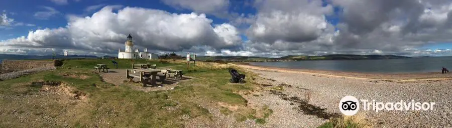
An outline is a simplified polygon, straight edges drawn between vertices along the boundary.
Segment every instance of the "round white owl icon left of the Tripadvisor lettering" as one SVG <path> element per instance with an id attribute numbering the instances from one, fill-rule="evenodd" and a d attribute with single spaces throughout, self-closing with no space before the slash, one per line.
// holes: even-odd
<path id="1" fill-rule="evenodd" d="M 355 96 L 344 96 L 339 101 L 339 110 L 345 115 L 355 115 L 360 110 L 360 102 Z"/>

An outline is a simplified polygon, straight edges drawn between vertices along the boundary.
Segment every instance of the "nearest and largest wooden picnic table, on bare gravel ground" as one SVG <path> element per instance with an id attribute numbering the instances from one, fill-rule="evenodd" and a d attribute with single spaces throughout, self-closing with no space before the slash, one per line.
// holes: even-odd
<path id="1" fill-rule="evenodd" d="M 129 70 L 131 71 L 138 71 L 140 75 L 137 74 L 130 74 Z M 157 72 L 160 72 L 160 69 L 142 69 L 142 68 L 136 68 L 136 69 L 127 69 L 126 70 L 126 76 L 127 78 L 140 78 L 140 82 L 143 84 L 143 86 L 146 86 L 147 84 L 156 84 L 156 76 L 159 76 L 160 80 L 163 82 L 165 79 L 165 75 L 161 76 L 158 75 Z"/>

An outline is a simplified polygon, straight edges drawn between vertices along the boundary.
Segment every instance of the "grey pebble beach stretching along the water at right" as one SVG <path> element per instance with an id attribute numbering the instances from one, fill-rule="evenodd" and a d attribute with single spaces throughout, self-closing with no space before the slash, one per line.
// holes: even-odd
<path id="1" fill-rule="evenodd" d="M 338 102 L 346 95 L 358 99 L 375 99 L 381 102 L 397 102 L 401 99 L 414 99 L 420 102 L 436 102 L 430 111 L 365 111 L 367 119 L 375 127 L 451 127 L 452 126 L 452 81 L 391 81 L 369 80 L 323 75 L 305 74 L 302 72 L 275 72 L 249 69 L 260 74 L 273 86 L 284 83 L 281 94 L 263 92 L 262 96 L 247 97 L 252 103 L 267 104 L 273 109 L 268 126 L 270 127 L 315 127 L 326 121 L 322 115 L 341 115 Z M 290 85 L 290 86 L 289 86 Z M 306 98 L 310 90 L 309 105 L 316 106 L 320 112 L 312 114 L 300 109 L 300 103 L 282 99 L 281 97 Z"/>

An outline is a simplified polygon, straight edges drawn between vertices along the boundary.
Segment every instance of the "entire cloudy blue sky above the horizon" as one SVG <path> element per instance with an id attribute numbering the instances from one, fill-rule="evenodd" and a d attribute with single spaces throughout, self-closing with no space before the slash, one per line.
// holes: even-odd
<path id="1" fill-rule="evenodd" d="M 451 2 L 3 0 L 0 53 L 115 55 L 132 33 L 137 48 L 157 53 L 444 56 L 452 55 Z"/>

